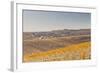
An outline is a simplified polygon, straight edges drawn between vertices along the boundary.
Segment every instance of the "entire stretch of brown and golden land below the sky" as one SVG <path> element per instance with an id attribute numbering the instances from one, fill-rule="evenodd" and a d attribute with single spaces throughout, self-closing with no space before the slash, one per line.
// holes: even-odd
<path id="1" fill-rule="evenodd" d="M 23 62 L 91 59 L 90 29 L 23 33 Z"/>

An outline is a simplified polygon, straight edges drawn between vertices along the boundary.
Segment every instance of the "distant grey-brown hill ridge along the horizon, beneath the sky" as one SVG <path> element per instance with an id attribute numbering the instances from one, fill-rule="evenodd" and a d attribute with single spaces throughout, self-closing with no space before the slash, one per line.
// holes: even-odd
<path id="1" fill-rule="evenodd" d="M 24 32 L 24 36 L 27 37 L 64 37 L 64 36 L 75 36 L 75 35 L 89 35 L 91 29 L 63 29 L 63 30 L 52 30 L 45 32 Z"/>

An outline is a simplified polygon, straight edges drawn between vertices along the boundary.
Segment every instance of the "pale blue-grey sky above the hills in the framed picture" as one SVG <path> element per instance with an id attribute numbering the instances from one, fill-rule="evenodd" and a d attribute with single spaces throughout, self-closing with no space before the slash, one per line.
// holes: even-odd
<path id="1" fill-rule="evenodd" d="M 91 14 L 23 10 L 23 32 L 91 28 Z"/>

